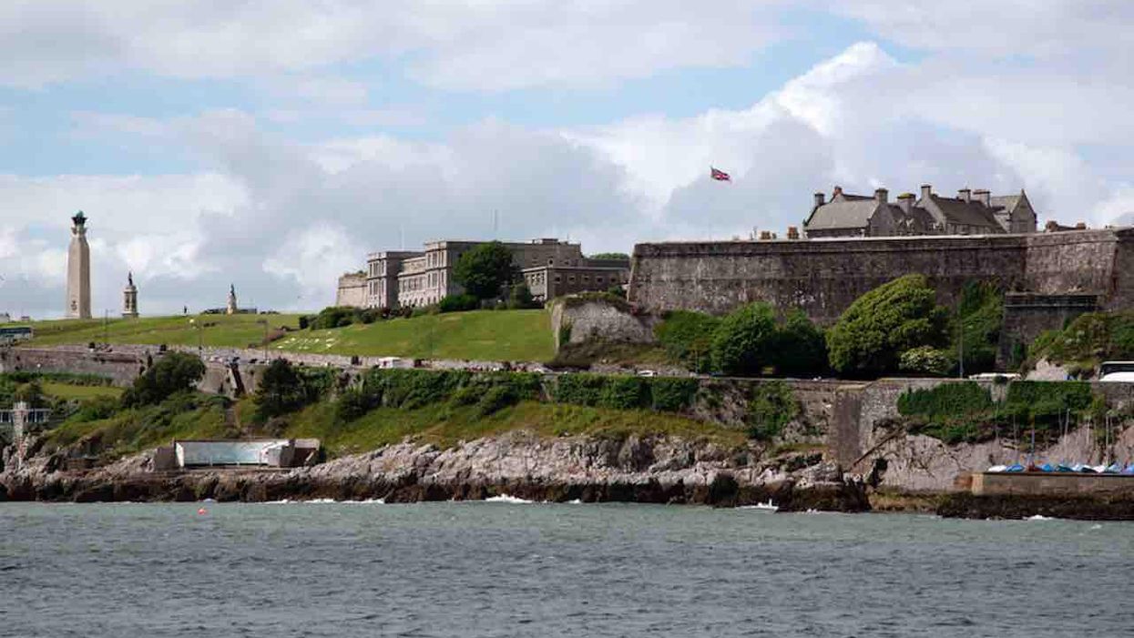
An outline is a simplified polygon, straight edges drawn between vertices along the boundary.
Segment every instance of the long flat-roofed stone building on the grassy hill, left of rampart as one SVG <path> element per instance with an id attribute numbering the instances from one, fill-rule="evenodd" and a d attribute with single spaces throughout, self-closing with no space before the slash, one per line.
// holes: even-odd
<path id="1" fill-rule="evenodd" d="M 452 279 L 452 267 L 462 255 L 484 244 L 446 239 L 430 241 L 424 250 L 386 250 L 367 257 L 363 299 L 353 295 L 352 279 L 339 279 L 337 299 L 364 307 L 420 307 L 435 304 L 463 289 Z M 503 241 L 536 299 L 582 290 L 606 290 L 611 283 L 626 283 L 629 262 L 589 260 L 579 244 L 540 238 L 531 241 Z M 575 270 L 569 270 L 575 269 Z M 550 282 L 550 292 L 549 291 Z M 539 292 L 538 292 L 539 290 Z"/>

